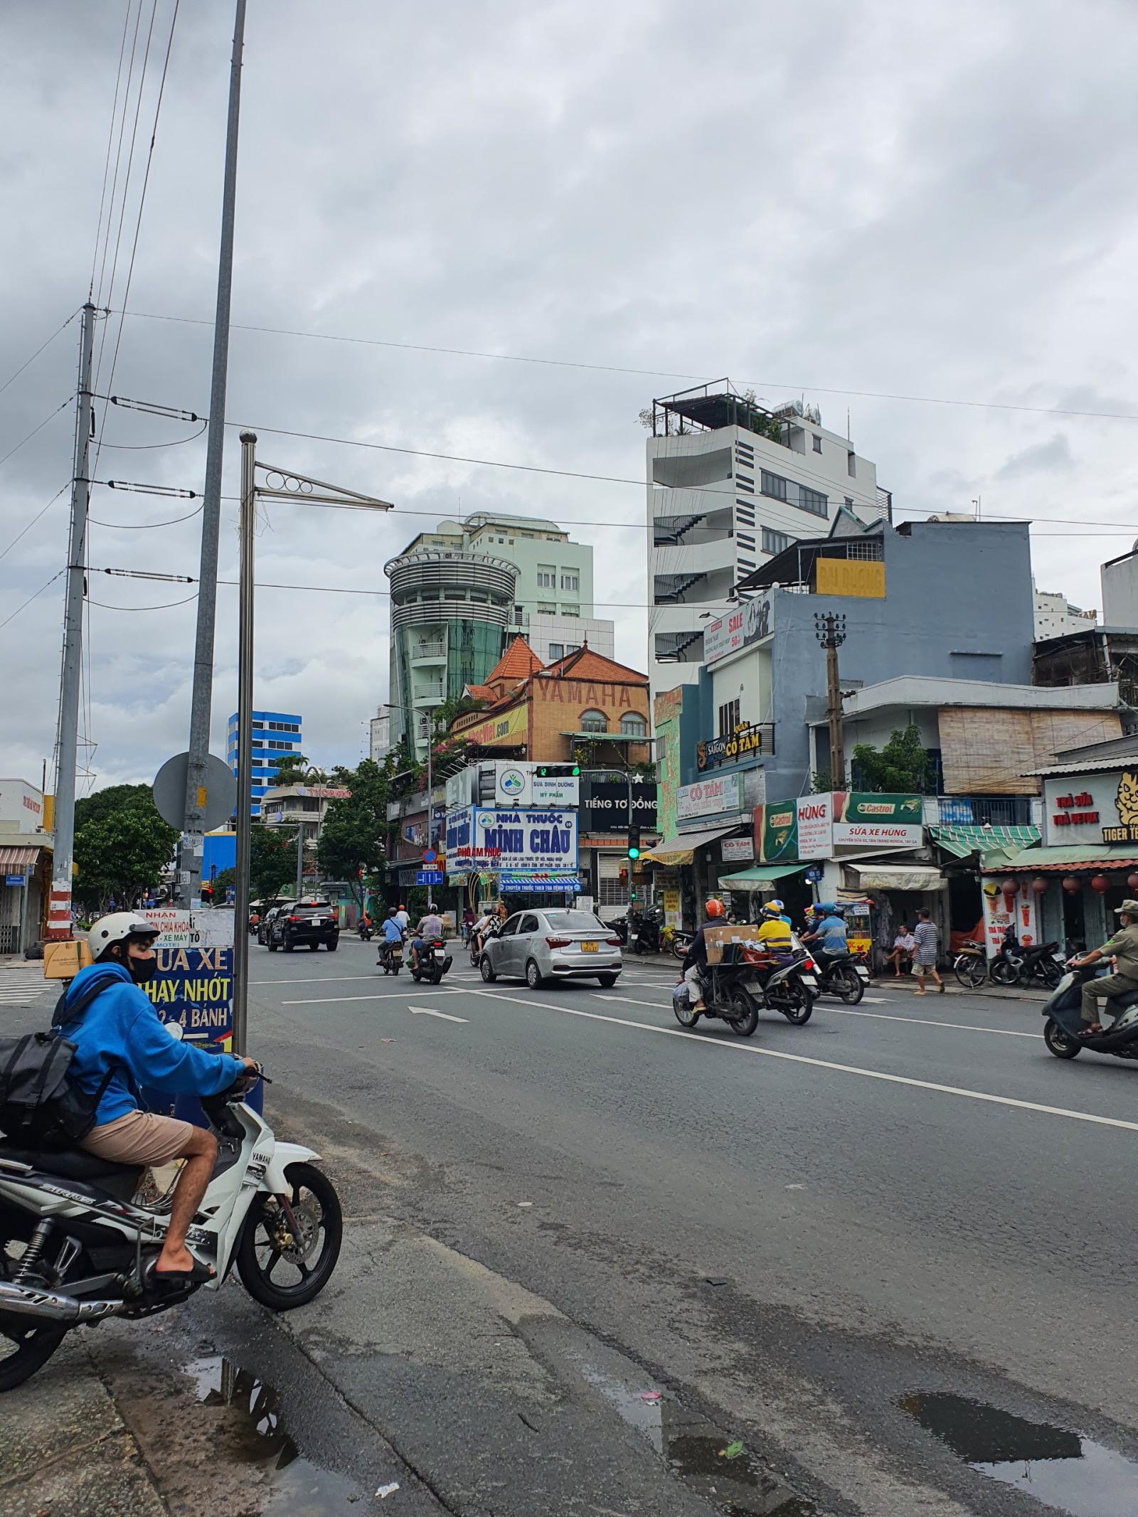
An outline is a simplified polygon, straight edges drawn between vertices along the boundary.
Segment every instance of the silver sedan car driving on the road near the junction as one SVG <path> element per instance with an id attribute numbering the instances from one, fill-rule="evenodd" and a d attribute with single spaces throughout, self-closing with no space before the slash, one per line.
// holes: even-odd
<path id="1" fill-rule="evenodd" d="M 514 912 L 489 939 L 479 960 L 483 978 L 517 975 L 531 991 L 546 980 L 599 980 L 616 985 L 624 968 L 621 939 L 592 912 Z"/>

